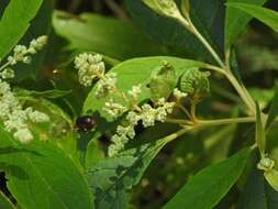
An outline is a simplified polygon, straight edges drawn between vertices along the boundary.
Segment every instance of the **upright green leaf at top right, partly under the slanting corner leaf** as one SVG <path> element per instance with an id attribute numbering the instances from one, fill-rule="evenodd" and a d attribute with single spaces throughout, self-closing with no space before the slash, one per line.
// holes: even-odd
<path id="1" fill-rule="evenodd" d="M 240 33 L 252 20 L 252 15 L 246 14 L 232 7 L 237 3 L 249 3 L 263 6 L 267 0 L 227 0 L 226 18 L 225 18 L 225 50 L 227 51 L 236 41 Z M 230 7 L 231 6 L 231 7 Z"/>

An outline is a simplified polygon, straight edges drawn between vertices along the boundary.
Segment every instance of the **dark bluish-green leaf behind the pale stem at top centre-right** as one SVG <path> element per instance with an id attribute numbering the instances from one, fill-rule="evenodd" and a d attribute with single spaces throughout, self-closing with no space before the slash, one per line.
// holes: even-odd
<path id="1" fill-rule="evenodd" d="M 202 44 L 175 20 L 156 14 L 144 6 L 142 0 L 125 0 L 125 4 L 133 20 L 162 44 L 186 57 L 202 57 L 212 61 Z M 190 15 L 212 47 L 223 54 L 224 2 L 222 0 L 192 0 Z"/>

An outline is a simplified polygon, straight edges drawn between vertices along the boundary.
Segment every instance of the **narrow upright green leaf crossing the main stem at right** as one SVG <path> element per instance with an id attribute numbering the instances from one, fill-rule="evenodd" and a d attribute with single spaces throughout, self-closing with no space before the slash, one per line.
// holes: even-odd
<path id="1" fill-rule="evenodd" d="M 256 102 L 256 143 L 260 152 L 260 155 L 264 155 L 266 150 L 266 136 L 264 124 L 262 121 L 260 109 L 257 102 Z"/>

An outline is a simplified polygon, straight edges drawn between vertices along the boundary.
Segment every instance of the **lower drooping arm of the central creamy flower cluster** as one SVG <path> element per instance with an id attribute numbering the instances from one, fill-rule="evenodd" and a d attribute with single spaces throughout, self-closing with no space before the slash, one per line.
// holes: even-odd
<path id="1" fill-rule="evenodd" d="M 137 98 L 141 92 L 140 86 L 132 87 L 132 90 L 127 91 L 131 99 Z M 122 109 L 125 108 L 125 111 L 129 110 L 127 107 L 123 107 L 120 103 L 114 103 L 114 106 L 119 106 Z M 124 145 L 129 142 L 130 139 L 135 138 L 135 125 L 142 121 L 144 128 L 155 125 L 155 121 L 165 122 L 167 114 L 173 112 L 173 108 L 175 102 L 167 102 L 164 98 L 159 99 L 156 103 L 156 107 L 152 107 L 151 105 L 143 105 L 141 108 L 137 107 L 136 110 L 131 110 L 125 120 L 127 121 L 127 125 L 119 125 L 116 129 L 116 134 L 112 136 L 112 142 L 109 146 L 108 155 L 113 156 L 118 154 L 120 151 L 124 148 Z M 138 110 L 140 108 L 140 110 Z M 108 113 L 111 113 L 108 111 Z M 121 116 L 116 114 L 118 111 L 112 111 L 111 116 Z"/>

